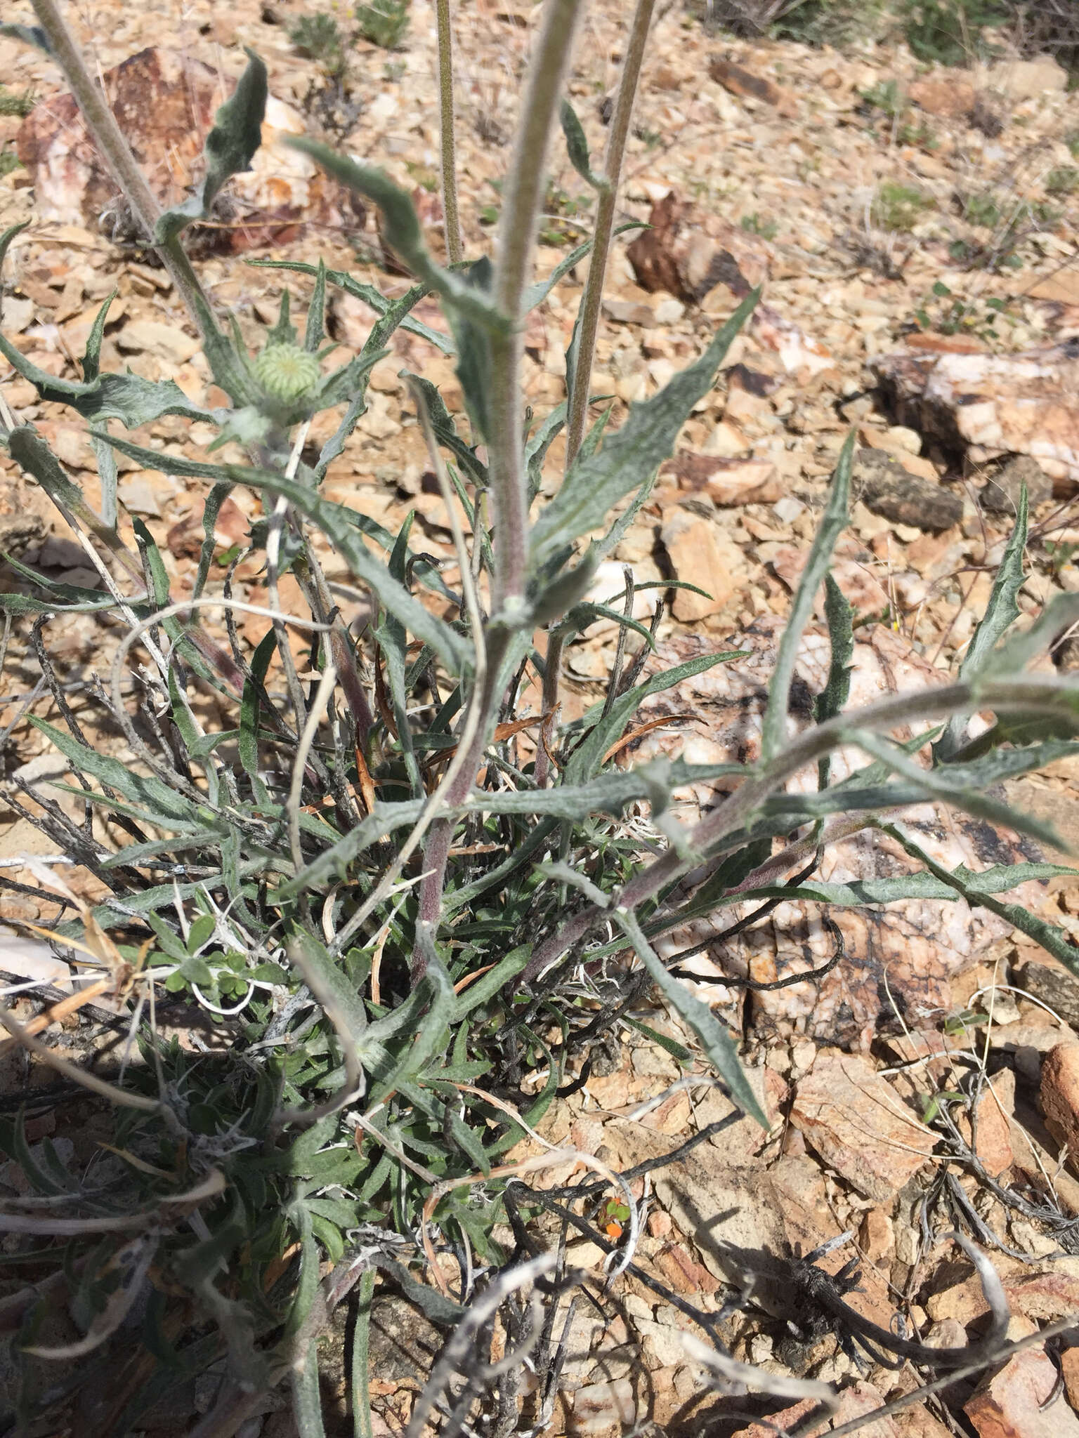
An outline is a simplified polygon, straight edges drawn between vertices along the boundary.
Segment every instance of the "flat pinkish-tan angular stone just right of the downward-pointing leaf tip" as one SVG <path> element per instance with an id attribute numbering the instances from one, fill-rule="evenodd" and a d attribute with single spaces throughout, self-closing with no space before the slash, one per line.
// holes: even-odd
<path id="1" fill-rule="evenodd" d="M 865 1060 L 821 1057 L 794 1089 L 790 1120 L 824 1162 L 883 1204 L 932 1155 L 934 1136 Z"/>

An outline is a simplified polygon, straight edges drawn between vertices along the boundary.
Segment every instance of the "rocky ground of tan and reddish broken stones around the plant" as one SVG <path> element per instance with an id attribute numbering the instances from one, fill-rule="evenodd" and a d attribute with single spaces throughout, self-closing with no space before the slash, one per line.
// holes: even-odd
<path id="1" fill-rule="evenodd" d="M 617 78 L 620 9 L 590 6 L 570 82 L 594 151 Z M 383 250 L 374 216 L 357 211 L 276 144 L 285 132 L 318 132 L 327 115 L 317 104 L 318 69 L 288 36 L 301 10 L 252 0 L 236 0 L 227 13 L 209 0 L 145 7 L 88 0 L 78 10 L 81 39 L 106 76 L 151 183 L 170 200 L 184 193 L 209 116 L 243 68 L 243 46 L 266 60 L 275 102 L 263 151 L 200 240 L 200 272 L 214 303 L 252 342 L 273 322 L 285 282 L 279 270 L 252 267 L 252 257 L 322 256 L 384 295 L 407 285 Z M 473 256 L 491 246 L 535 20 L 515 0 L 457 10 L 462 211 Z M 42 370 L 75 378 L 75 357 L 115 288 L 104 368 L 174 378 L 194 401 L 213 404 L 194 332 L 167 275 L 125 243 L 129 224 L 55 69 L 0 39 L 0 75 L 10 91 L 39 96 L 29 118 L 0 116 L 0 154 L 23 161 L 0 165 L 0 216 L 4 226 L 30 221 L 4 272 L 3 334 Z M 639 582 L 689 581 L 708 597 L 672 591 L 659 630 L 666 663 L 695 647 L 731 647 L 732 637 L 750 657 L 660 696 L 668 709 L 656 706 L 652 716 L 678 715 L 680 728 L 657 731 L 633 758 L 683 743 L 696 746 L 696 758 L 751 746 L 747 697 L 767 683 L 775 630 L 852 427 L 857 502 L 834 572 L 862 621 L 856 686 L 863 702 L 955 672 L 1023 480 L 1033 515 L 1023 610 L 1033 617 L 1052 594 L 1079 590 L 1072 562 L 1079 552 L 1079 95 L 1065 82 L 1052 62 L 932 72 L 896 47 L 840 55 L 731 42 L 709 36 L 679 6 L 657 20 L 623 201 L 623 219 L 649 220 L 653 229 L 619 242 L 594 377 L 597 391 L 616 397 L 613 423 L 695 357 L 750 286 L 762 283 L 764 301 L 597 590 L 601 598 L 620 592 L 624 564 Z M 358 46 L 348 104 L 358 115 L 345 147 L 414 190 L 437 244 L 426 3 L 416 0 L 400 50 Z M 541 273 L 588 227 L 587 193 L 561 151 L 551 175 Z M 525 380 L 540 414 L 564 397 L 581 279 L 578 266 L 529 324 Z M 309 280 L 289 276 L 288 283 L 306 296 Z M 442 328 L 433 303 L 416 315 Z M 338 358 L 358 349 L 373 318 L 360 299 L 335 295 Z M 452 558 L 442 499 L 424 477 L 424 446 L 399 378 L 403 367 L 437 383 L 450 410 L 460 408 L 452 362 L 424 339 L 399 334 L 393 355 L 375 368 L 357 439 L 325 489 L 390 529 L 414 510 L 424 549 Z M 16 418 L 49 437 L 98 503 L 92 449 L 69 413 L 37 404 L 33 387 L 6 361 L 0 394 Z M 314 444 L 337 417 L 322 423 Z M 211 437 L 209 427 L 200 433 L 168 418 L 140 436 L 163 454 L 188 457 L 204 456 Z M 121 532 L 131 536 L 135 519 L 145 523 L 174 592 L 183 594 L 196 568 L 204 490 L 135 462 L 121 462 Z M 223 506 L 222 555 L 243 541 L 256 503 L 236 490 Z M 98 582 L 47 499 L 3 454 L 0 549 L 50 580 Z M 348 580 L 344 572 L 329 578 Z M 258 603 L 258 564 L 242 564 L 236 580 Z M 0 569 L 4 587 L 22 582 L 12 568 Z M 282 582 L 286 608 L 289 582 Z M 656 592 L 642 591 L 642 605 Z M 342 603 L 352 604 L 352 618 L 363 611 L 355 591 Z M 263 630 L 265 620 L 250 617 L 242 637 L 253 644 Z M 47 634 L 78 715 L 88 677 L 111 654 L 111 636 L 88 615 L 53 620 Z M 820 634 L 807 637 L 800 661 L 807 682 L 826 659 L 823 643 Z M 591 703 L 611 657 L 613 633 L 600 628 L 568 651 L 567 718 L 574 705 L 581 712 Z M 1079 663 L 1070 641 L 1055 663 Z M 58 772 L 23 722 L 27 707 L 50 712 L 37 686 L 33 661 L 12 643 L 0 735 L 7 775 L 27 781 Z M 1013 785 L 1011 798 L 1079 841 L 1076 781 L 1079 769 L 1066 761 Z M 685 804 L 706 797 L 685 795 Z M 1017 853 L 1014 835 L 987 838 L 984 825 L 944 814 L 931 812 L 925 828 L 950 867 L 1007 861 L 1001 846 Z M 0 812 L 0 863 L 26 886 L 0 897 L 0 916 L 53 917 L 32 892 L 37 884 L 23 861 L 47 851 L 32 825 Z M 879 844 L 873 853 L 840 844 L 821 876 L 860 877 L 879 860 Z M 78 887 L 81 879 L 70 881 Z M 92 896 L 92 880 L 83 887 Z M 1079 928 L 1072 880 L 1030 886 L 1024 902 L 1069 932 Z M 968 1231 L 991 1251 L 1013 1313 L 1010 1337 L 1079 1313 L 1079 1227 L 1070 1222 L 1079 1218 L 1079 1181 L 1069 1158 L 1079 1153 L 1079 982 L 1026 938 L 961 905 L 911 903 L 836 919 L 847 962 L 819 984 L 738 1002 L 719 985 L 704 989 L 747 1035 L 747 1061 L 773 1129 L 762 1140 L 748 1120 L 734 1123 L 647 1181 L 652 1206 L 637 1263 L 668 1297 L 627 1276 L 614 1317 L 580 1310 L 551 1434 L 642 1431 L 647 1419 L 692 1426 L 702 1373 L 683 1345 L 685 1320 L 670 1294 L 718 1311 L 716 1294 L 732 1276 L 755 1284 L 755 1307 L 727 1320 L 737 1356 L 773 1373 L 842 1383 L 836 1425 L 914 1391 L 919 1379 L 909 1365 L 860 1372 L 834 1333 L 794 1334 L 783 1322 L 790 1316 L 783 1265 L 842 1234 L 849 1238 L 823 1261 L 839 1270 L 860 1258 L 862 1290 L 850 1303 L 892 1332 L 901 1311 L 906 1332 L 924 1343 L 973 1343 L 987 1313 L 973 1265 L 932 1238 L 952 1227 L 950 1212 L 967 1215 Z M 689 938 L 699 942 L 708 932 L 675 935 L 670 952 Z M 26 969 L 37 959 L 19 961 L 13 938 L 0 943 L 9 945 L 7 971 L 23 972 L 20 962 Z M 739 943 L 741 972 L 768 981 L 791 966 L 819 966 L 833 935 L 811 906 L 786 905 Z M 696 972 L 702 982 L 722 975 L 708 955 Z M 673 1020 L 663 1024 L 679 1037 Z M 716 1090 L 685 1086 L 679 1073 L 656 1045 L 627 1045 L 609 1074 L 557 1103 L 544 1136 L 617 1168 L 668 1152 L 729 1116 Z M 970 1103 L 945 1104 L 951 1127 L 932 1122 L 941 1109 L 934 1094 L 958 1090 L 970 1074 L 977 1080 Z M 40 1123 L 47 1132 L 47 1119 Z M 564 1178 L 552 1171 L 544 1182 Z M 594 1245 L 577 1247 L 574 1261 L 600 1263 Z M 414 1365 L 409 1345 L 394 1342 L 391 1304 L 383 1313 L 387 1336 L 374 1391 L 384 1431 L 399 1432 Z M 878 1438 L 1079 1434 L 1079 1349 L 1066 1337 L 1063 1345 L 1032 1346 L 990 1378 L 952 1383 L 944 1398 L 912 1403 L 865 1431 Z M 731 1399 L 724 1432 L 757 1438 L 770 1431 L 747 1428 L 741 1411 Z M 268 1416 L 265 1438 L 285 1434 L 283 1422 L 283 1415 Z"/>

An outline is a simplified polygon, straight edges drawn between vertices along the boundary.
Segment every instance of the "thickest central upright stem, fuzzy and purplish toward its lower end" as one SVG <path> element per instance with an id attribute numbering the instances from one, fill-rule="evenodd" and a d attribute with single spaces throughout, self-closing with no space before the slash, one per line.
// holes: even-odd
<path id="1" fill-rule="evenodd" d="M 548 0 L 528 73 L 521 119 L 502 193 L 493 298 L 512 332 L 492 341 L 488 450 L 495 528 L 493 611 L 524 598 L 528 489 L 521 433 L 522 305 L 547 178 L 547 147 L 573 47 L 580 0 Z"/>

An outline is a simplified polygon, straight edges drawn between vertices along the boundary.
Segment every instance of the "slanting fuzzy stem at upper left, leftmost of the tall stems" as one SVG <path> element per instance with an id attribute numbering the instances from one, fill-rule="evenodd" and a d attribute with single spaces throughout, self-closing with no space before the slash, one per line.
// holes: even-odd
<path id="1" fill-rule="evenodd" d="M 82 118 L 112 171 L 112 178 L 124 191 L 124 197 L 145 230 L 147 239 L 152 242 L 154 229 L 161 217 L 161 206 L 154 198 L 138 161 L 131 154 L 131 147 L 121 134 L 117 116 L 91 76 L 82 50 L 75 43 L 75 36 L 68 29 L 56 0 L 32 0 L 32 3 L 37 22 L 49 40 L 52 58 L 63 72 Z M 160 244 L 157 253 L 173 278 L 177 295 L 204 335 L 213 311 L 187 256 L 178 243 Z"/>

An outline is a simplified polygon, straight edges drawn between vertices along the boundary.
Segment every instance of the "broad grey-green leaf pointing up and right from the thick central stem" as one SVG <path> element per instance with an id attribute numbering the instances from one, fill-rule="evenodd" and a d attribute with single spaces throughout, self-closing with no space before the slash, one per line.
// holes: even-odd
<path id="1" fill-rule="evenodd" d="M 724 355 L 752 313 L 754 290 L 704 355 L 652 400 L 634 404 L 623 427 L 598 454 L 577 462 L 561 489 L 532 526 L 532 562 L 540 565 L 565 544 L 598 529 L 614 505 L 649 479 L 675 447 L 678 431 L 699 398 L 712 388 Z"/>

